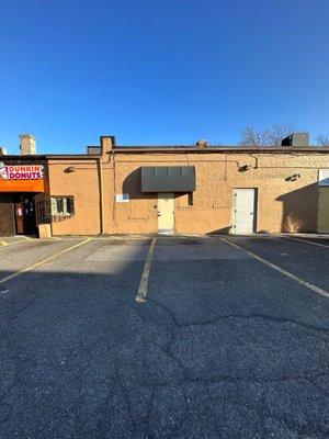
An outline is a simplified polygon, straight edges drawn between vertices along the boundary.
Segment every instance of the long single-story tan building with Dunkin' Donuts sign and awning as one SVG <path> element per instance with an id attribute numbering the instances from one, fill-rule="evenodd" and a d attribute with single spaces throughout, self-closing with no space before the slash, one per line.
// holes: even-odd
<path id="1" fill-rule="evenodd" d="M 34 228 L 53 235 L 328 233 L 329 148 L 297 146 L 295 138 L 256 149 L 203 140 L 124 147 L 102 136 L 86 155 L 1 156 L 7 170 L 34 164 L 43 175 L 27 179 L 30 189 L 0 177 L 0 235 L 33 228 L 18 228 L 20 196 L 34 204 Z"/>

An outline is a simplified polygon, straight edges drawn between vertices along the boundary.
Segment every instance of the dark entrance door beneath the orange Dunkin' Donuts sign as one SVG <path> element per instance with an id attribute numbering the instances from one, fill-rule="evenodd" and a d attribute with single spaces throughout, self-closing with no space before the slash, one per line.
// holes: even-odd
<path id="1" fill-rule="evenodd" d="M 15 198 L 15 223 L 18 235 L 36 233 L 34 195 L 20 194 Z"/>

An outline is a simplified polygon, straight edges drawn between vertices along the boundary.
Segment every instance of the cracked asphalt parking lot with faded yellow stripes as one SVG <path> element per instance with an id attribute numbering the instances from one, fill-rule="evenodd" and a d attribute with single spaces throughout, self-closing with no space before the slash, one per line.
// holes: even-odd
<path id="1" fill-rule="evenodd" d="M 3 240 L 0 438 L 328 438 L 329 239 Z"/>

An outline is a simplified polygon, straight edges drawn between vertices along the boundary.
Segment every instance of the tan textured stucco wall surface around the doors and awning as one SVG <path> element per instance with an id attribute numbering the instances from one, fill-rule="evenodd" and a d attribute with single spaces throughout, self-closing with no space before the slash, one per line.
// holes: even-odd
<path id="1" fill-rule="evenodd" d="M 258 161 L 258 164 L 257 164 Z M 53 225 L 56 234 L 99 234 L 99 175 L 95 161 L 49 164 L 50 192 L 73 194 L 76 216 Z M 318 169 L 329 168 L 328 154 L 313 153 L 110 153 L 103 157 L 104 233 L 158 232 L 157 194 L 140 192 L 141 166 L 183 166 L 196 169 L 193 205 L 184 194 L 175 195 L 175 232 L 229 232 L 234 188 L 258 189 L 258 232 L 315 232 L 318 205 Z M 250 169 L 239 172 L 240 166 Z M 285 181 L 300 173 L 296 181 Z M 55 182 L 54 182 L 55 181 Z M 55 193 L 55 192 L 56 193 Z M 64 193 L 65 191 L 65 193 Z M 128 203 L 116 203 L 115 194 L 128 193 Z"/>

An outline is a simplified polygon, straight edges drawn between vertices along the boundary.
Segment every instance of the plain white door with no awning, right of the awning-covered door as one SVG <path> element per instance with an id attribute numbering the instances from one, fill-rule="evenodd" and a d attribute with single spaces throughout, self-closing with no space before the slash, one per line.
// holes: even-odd
<path id="1" fill-rule="evenodd" d="M 234 234 L 251 234 L 256 224 L 256 189 L 234 189 Z"/>

